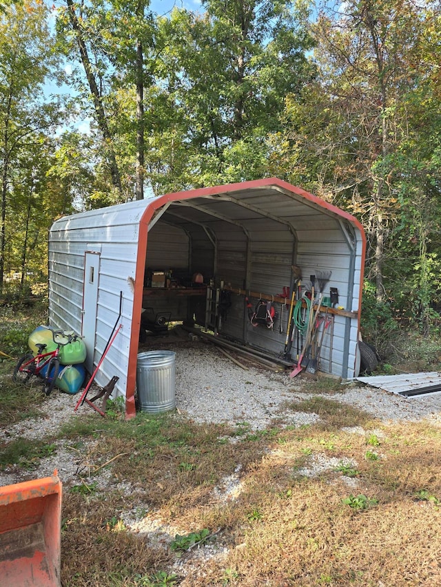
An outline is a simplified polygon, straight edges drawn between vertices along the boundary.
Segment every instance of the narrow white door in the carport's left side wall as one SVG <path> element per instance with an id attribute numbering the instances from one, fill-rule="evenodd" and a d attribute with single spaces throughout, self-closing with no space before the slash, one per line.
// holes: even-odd
<path id="1" fill-rule="evenodd" d="M 85 366 L 92 373 L 96 333 L 96 306 L 98 302 L 99 253 L 85 253 L 83 288 L 83 327 L 85 348 L 88 354 Z"/>

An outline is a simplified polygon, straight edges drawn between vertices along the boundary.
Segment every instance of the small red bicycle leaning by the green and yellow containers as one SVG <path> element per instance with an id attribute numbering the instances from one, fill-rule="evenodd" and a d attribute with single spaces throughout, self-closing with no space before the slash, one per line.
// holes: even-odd
<path id="1" fill-rule="evenodd" d="M 63 339 L 57 339 L 57 337 L 63 337 Z M 32 376 L 40 376 L 43 378 L 45 394 L 47 396 L 50 395 L 60 371 L 59 355 L 61 347 L 81 338 L 83 337 L 74 334 L 74 332 L 52 330 L 52 339 L 57 345 L 57 348 L 45 352 L 47 345 L 45 343 L 37 343 L 37 354 L 34 355 L 28 352 L 15 365 L 14 373 L 12 374 L 13 381 L 26 384 Z"/>

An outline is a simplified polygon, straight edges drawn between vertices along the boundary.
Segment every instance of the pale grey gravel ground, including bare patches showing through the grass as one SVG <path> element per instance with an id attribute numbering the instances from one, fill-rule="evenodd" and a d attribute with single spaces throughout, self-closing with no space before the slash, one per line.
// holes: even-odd
<path id="1" fill-rule="evenodd" d="M 318 420 L 317 414 L 291 412 L 285 403 L 311 396 L 311 380 L 302 376 L 291 379 L 289 372 L 272 372 L 265 367 L 249 365 L 247 370 L 236 365 L 211 343 L 205 341 L 182 341 L 166 339 L 155 341 L 156 349 L 168 349 L 176 352 L 176 411 L 190 416 L 198 423 L 247 423 L 254 430 L 265 429 L 274 418 L 285 425 L 304 425 Z M 148 350 L 143 348 L 142 350 Z M 232 353 L 233 354 L 233 353 Z M 245 360 L 236 356 L 245 364 Z M 434 425 L 441 425 L 441 394 L 424 398 L 402 398 L 368 385 L 351 383 L 344 393 L 326 394 L 327 398 L 347 403 L 364 409 L 384 423 L 427 420 Z M 54 390 L 45 400 L 41 410 L 43 417 L 28 419 L 21 423 L 0 429 L 0 442 L 14 438 L 42 438 L 53 434 L 70 418 L 83 418 L 92 414 L 96 418 L 97 429 L 102 421 L 99 414 L 87 404 L 74 412 L 79 395 L 70 396 Z M 347 429 L 353 434 L 365 434 L 361 427 Z M 377 431 L 379 435 L 381 430 Z M 93 441 L 95 442 L 95 441 Z M 54 469 L 59 471 L 63 487 L 78 484 L 81 476 L 90 474 L 87 462 L 88 451 L 93 450 L 93 442 L 88 449 L 83 447 L 81 453 L 63 440 L 57 442 L 57 452 L 41 461 L 34 471 L 20 471 L 13 467 L 0 472 L 0 485 L 19 482 L 26 479 L 51 475 Z M 281 458 L 288 458 L 282 455 Z M 335 461 L 335 462 L 334 462 Z M 338 460 L 340 462 L 340 460 Z M 305 476 L 314 476 L 321 471 L 336 467 L 337 460 L 329 459 L 324 453 L 311 457 L 307 467 L 302 470 Z M 349 462 L 349 464 L 351 464 Z M 214 488 L 213 500 L 222 505 L 240 495 L 240 464 L 234 474 L 221 480 Z M 98 489 L 106 489 L 110 471 L 104 470 L 98 478 Z M 96 480 L 96 477 L 94 477 Z M 357 480 L 347 478 L 348 487 L 356 490 Z M 121 483 L 120 489 L 131 491 L 130 480 Z M 171 526 L 156 511 L 148 511 L 139 520 L 136 511 L 127 511 L 121 518 L 127 529 L 139 533 L 143 540 L 168 548 L 176 533 L 185 534 L 179 526 Z M 187 530 L 188 531 L 188 530 Z M 204 584 L 204 566 L 211 558 L 227 555 L 227 548 L 219 536 L 218 544 L 209 543 L 201 548 L 194 548 L 183 557 L 176 557 L 173 570 L 181 577 L 180 585 L 190 587 Z"/>

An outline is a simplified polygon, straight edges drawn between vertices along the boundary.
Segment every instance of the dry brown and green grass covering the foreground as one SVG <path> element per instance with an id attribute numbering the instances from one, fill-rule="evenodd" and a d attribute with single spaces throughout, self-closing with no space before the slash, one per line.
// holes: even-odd
<path id="1" fill-rule="evenodd" d="M 39 441 L 5 443 L 0 469 L 32 470 L 68 440 L 79 474 L 63 487 L 63 587 L 438 585 L 441 429 L 383 425 L 326 396 L 339 390 L 320 381 L 289 404 L 318 423 L 263 431 L 177 414 L 126 422 L 110 405 L 111 417 L 81 414 Z M 44 401 L 22 392 L 3 385 L 3 423 Z M 130 531 L 133 520 L 149 532 Z M 223 556 L 201 564 L 206 541 Z M 178 556 L 195 557 L 186 576 Z"/>

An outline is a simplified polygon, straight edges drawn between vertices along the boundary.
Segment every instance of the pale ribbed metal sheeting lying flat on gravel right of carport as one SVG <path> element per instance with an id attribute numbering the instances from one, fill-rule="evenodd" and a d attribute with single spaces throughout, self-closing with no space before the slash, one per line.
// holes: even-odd
<path id="1" fill-rule="evenodd" d="M 441 373 L 438 371 L 356 377 L 356 380 L 406 398 L 423 397 L 441 392 Z"/>

